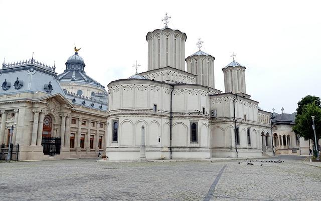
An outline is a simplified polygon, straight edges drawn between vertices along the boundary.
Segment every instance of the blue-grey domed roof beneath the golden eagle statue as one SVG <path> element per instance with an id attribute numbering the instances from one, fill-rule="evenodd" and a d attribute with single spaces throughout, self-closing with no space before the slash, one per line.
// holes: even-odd
<path id="1" fill-rule="evenodd" d="M 74 55 L 70 56 L 66 62 L 66 70 L 59 74 L 58 80 L 60 82 L 80 82 L 83 84 L 92 84 L 98 87 L 105 88 L 102 84 L 92 79 L 84 71 L 85 63 L 82 57 L 78 55 L 78 52 L 75 52 Z"/>

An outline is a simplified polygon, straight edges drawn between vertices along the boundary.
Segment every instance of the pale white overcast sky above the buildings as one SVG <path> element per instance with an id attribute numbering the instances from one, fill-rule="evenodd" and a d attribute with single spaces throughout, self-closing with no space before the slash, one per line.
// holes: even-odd
<path id="1" fill-rule="evenodd" d="M 222 68 L 247 68 L 246 92 L 266 111 L 292 113 L 306 95 L 321 97 L 321 1 L 2 1 L 0 58 L 35 59 L 62 73 L 74 46 L 86 74 L 106 86 L 127 78 L 137 60 L 147 70 L 147 32 L 169 27 L 187 34 L 185 56 L 215 57 L 215 88 Z M 2 63 L 2 62 L 1 62 Z"/>

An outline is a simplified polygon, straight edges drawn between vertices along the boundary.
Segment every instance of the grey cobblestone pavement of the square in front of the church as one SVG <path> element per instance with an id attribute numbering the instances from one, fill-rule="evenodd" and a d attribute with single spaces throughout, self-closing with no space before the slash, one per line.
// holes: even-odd
<path id="1" fill-rule="evenodd" d="M 321 168 L 304 157 L 240 161 L 0 163 L 0 200 L 320 200 Z M 263 160 L 263 159 L 257 159 Z M 260 164 L 263 164 L 260 166 Z"/>

